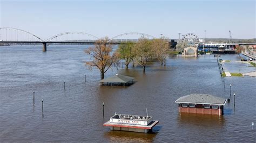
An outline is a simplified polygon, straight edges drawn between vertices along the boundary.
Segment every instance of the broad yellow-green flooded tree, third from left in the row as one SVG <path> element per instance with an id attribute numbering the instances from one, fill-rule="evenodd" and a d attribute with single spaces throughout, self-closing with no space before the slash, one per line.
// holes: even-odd
<path id="1" fill-rule="evenodd" d="M 134 59 L 136 59 L 138 64 L 143 67 L 143 71 L 145 71 L 146 64 L 152 58 L 154 53 L 152 41 L 144 38 L 139 39 L 134 45 L 133 53 L 135 54 Z"/>

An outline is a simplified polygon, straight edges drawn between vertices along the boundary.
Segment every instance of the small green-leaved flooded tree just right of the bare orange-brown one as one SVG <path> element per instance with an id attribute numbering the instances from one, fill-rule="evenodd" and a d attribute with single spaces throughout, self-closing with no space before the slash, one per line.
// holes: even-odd
<path id="1" fill-rule="evenodd" d="M 125 60 L 125 67 L 128 68 L 129 63 L 134 61 L 134 54 L 133 54 L 133 49 L 134 43 L 133 42 L 127 42 L 127 43 L 122 43 L 119 45 L 117 52 L 118 52 L 118 57 L 120 59 Z M 133 62 L 134 66 L 134 62 Z"/>

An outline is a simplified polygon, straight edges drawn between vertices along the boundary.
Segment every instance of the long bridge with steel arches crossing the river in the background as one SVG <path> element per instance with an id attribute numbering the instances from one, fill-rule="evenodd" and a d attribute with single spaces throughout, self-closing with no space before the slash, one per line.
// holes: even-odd
<path id="1" fill-rule="evenodd" d="M 136 37 L 128 39 L 127 36 Z M 139 32 L 130 32 L 117 35 L 110 38 L 107 44 L 121 44 L 125 42 L 137 42 L 138 38 L 155 39 L 156 37 Z M 49 44 L 96 44 L 100 40 L 95 35 L 85 32 L 64 32 L 43 40 L 37 35 L 17 28 L 0 27 L 0 44 L 1 45 L 31 45 L 42 44 L 43 51 L 47 50 Z"/>

